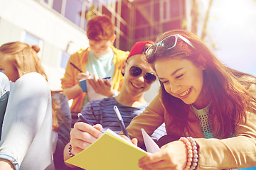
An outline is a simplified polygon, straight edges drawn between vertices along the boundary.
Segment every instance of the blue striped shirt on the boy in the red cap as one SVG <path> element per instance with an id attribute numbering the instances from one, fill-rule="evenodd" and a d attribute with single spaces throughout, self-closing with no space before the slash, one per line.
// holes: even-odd
<path id="1" fill-rule="evenodd" d="M 114 97 L 103 98 L 102 100 L 90 101 L 87 103 L 81 113 L 90 125 L 95 125 L 97 123 L 101 124 L 103 127 L 102 132 L 105 132 L 105 130 L 109 128 L 110 130 L 119 133 L 122 130 L 114 113 L 114 105 L 119 108 L 119 112 L 124 120 L 124 125 L 127 127 L 132 118 L 142 113 L 146 106 L 149 106 L 149 103 L 135 108 L 118 103 Z M 80 118 L 78 118 L 78 121 L 81 121 Z M 153 140 L 158 140 L 163 135 L 166 135 L 164 124 L 156 129 L 151 137 Z"/>

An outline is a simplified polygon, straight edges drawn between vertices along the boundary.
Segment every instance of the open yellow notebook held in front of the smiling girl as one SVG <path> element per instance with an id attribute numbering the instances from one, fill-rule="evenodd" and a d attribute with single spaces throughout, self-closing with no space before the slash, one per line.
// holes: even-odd
<path id="1" fill-rule="evenodd" d="M 66 160 L 86 170 L 136 170 L 138 161 L 149 154 L 108 129 L 90 147 Z"/>

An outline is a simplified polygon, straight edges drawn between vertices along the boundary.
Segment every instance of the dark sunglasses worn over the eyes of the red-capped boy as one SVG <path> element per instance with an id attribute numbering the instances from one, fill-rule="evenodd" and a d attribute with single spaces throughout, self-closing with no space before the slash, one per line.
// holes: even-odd
<path id="1" fill-rule="evenodd" d="M 129 74 L 132 77 L 138 77 L 140 74 L 142 74 L 142 72 L 144 71 L 136 66 L 132 66 L 129 69 Z M 154 73 L 144 72 L 144 80 L 146 81 L 147 84 L 151 84 L 156 80 L 156 75 L 154 75 Z"/>

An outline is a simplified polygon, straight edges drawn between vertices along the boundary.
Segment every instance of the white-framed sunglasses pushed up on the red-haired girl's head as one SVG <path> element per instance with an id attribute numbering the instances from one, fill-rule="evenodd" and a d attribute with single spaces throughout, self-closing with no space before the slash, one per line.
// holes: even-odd
<path id="1" fill-rule="evenodd" d="M 160 47 L 164 47 L 166 50 L 169 50 L 177 45 L 177 40 L 178 38 L 181 38 L 184 42 L 186 42 L 188 45 L 193 47 L 193 49 L 196 49 L 192 45 L 192 43 L 184 38 L 183 36 L 179 34 L 174 34 L 174 35 L 169 35 L 168 37 L 164 38 L 163 40 L 155 43 L 154 45 L 151 45 L 147 50 L 146 50 L 146 56 L 150 57 L 151 55 L 154 55 L 156 53 L 157 47 L 160 45 Z"/>

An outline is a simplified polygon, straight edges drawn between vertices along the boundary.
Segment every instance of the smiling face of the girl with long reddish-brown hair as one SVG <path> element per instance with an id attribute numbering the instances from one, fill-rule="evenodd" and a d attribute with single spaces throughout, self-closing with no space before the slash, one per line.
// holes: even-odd
<path id="1" fill-rule="evenodd" d="M 201 105 L 199 96 L 203 89 L 203 67 L 197 67 L 190 60 L 184 59 L 156 60 L 154 66 L 169 94 L 186 104 Z"/>

